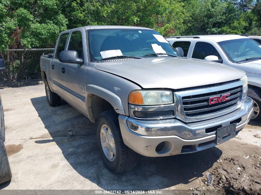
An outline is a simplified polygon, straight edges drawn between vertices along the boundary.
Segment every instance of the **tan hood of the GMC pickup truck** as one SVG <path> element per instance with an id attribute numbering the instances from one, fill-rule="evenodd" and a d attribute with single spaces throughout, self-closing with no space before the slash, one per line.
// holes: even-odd
<path id="1" fill-rule="evenodd" d="M 95 68 L 133 81 L 142 88 L 198 87 L 245 75 L 245 72 L 223 64 L 182 57 L 101 62 L 96 63 Z"/>

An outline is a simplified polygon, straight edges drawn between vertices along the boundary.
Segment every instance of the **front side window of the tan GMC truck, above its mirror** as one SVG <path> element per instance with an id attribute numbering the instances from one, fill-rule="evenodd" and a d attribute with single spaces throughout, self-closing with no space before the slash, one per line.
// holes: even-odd
<path id="1" fill-rule="evenodd" d="M 82 58 L 82 33 L 79 31 L 73 32 L 71 35 L 68 50 L 77 51 L 79 58 Z"/>

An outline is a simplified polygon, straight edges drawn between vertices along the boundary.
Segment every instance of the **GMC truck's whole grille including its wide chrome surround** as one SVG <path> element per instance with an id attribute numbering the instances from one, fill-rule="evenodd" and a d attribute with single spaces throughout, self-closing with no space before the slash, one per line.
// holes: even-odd
<path id="1" fill-rule="evenodd" d="M 227 93 L 230 93 L 227 96 L 230 98 L 229 100 L 208 104 L 210 97 Z M 229 114 L 240 107 L 242 95 L 243 82 L 241 80 L 175 91 L 175 116 L 184 122 L 195 122 Z"/>

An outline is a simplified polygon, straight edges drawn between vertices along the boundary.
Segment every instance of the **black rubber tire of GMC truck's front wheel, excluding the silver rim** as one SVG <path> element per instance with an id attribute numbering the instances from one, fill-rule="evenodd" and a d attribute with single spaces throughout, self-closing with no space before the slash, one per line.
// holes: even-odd
<path id="1" fill-rule="evenodd" d="M 118 116 L 119 114 L 117 114 L 114 110 L 102 112 L 98 117 L 96 132 L 100 155 L 105 166 L 113 173 L 123 173 L 133 169 L 138 162 L 138 154 L 128 148 L 123 142 Z M 100 130 L 103 124 L 106 124 L 111 129 L 114 138 L 116 155 L 113 161 L 109 161 L 107 159 L 101 145 Z"/>

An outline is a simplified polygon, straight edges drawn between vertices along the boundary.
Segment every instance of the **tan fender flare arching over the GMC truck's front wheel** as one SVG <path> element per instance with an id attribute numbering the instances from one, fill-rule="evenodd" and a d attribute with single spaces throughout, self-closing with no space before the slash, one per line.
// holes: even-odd
<path id="1" fill-rule="evenodd" d="M 104 100 L 107 100 L 112 105 L 112 107 L 114 108 L 114 110 L 117 113 L 125 115 L 123 104 L 122 104 L 120 98 L 116 94 L 112 93 L 111 91 L 109 91 L 107 89 L 99 87 L 97 85 L 90 84 L 90 85 L 86 86 L 86 103 L 87 103 L 86 110 L 87 110 L 90 120 L 93 118 L 92 112 L 91 112 L 91 106 L 90 106 L 92 95 L 97 95 L 97 96 L 103 98 Z"/>

